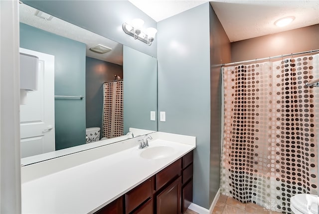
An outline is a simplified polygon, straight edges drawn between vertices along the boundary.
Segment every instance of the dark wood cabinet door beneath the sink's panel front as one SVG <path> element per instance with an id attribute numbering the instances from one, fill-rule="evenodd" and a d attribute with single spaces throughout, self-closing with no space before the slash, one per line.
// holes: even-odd
<path id="1" fill-rule="evenodd" d="M 180 214 L 181 176 L 156 197 L 157 214 Z"/>

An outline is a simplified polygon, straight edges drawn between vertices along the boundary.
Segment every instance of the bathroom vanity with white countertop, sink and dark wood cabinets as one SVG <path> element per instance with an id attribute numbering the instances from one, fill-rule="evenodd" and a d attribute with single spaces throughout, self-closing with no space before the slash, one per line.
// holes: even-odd
<path id="1" fill-rule="evenodd" d="M 141 136 L 22 167 L 22 213 L 183 213 L 196 139 L 151 136 L 144 149 Z"/>

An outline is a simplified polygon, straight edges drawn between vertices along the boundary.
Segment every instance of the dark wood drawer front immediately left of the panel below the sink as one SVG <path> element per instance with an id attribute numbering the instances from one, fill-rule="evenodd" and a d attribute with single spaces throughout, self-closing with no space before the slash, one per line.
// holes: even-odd
<path id="1" fill-rule="evenodd" d="M 131 213 L 147 199 L 152 197 L 154 177 L 143 182 L 130 192 L 125 194 L 126 214 Z"/>

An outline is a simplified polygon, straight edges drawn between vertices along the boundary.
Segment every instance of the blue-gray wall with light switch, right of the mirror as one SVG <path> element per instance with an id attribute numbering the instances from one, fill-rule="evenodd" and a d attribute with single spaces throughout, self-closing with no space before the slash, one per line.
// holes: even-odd
<path id="1" fill-rule="evenodd" d="M 158 22 L 159 131 L 196 136 L 193 203 L 209 208 L 209 2 Z"/>

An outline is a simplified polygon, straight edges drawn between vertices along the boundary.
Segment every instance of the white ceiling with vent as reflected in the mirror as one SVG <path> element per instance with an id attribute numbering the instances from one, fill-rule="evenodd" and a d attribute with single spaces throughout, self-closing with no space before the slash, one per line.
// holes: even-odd
<path id="1" fill-rule="evenodd" d="M 20 22 L 86 44 L 86 56 L 88 57 L 123 65 L 122 44 L 56 17 L 53 17 L 50 21 L 46 21 L 43 18 L 35 16 L 36 11 L 37 9 L 26 4 L 19 4 Z M 110 47 L 112 51 L 98 54 L 89 50 L 90 47 L 97 44 Z"/>

